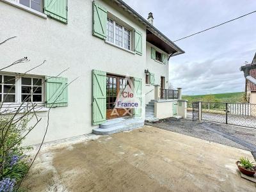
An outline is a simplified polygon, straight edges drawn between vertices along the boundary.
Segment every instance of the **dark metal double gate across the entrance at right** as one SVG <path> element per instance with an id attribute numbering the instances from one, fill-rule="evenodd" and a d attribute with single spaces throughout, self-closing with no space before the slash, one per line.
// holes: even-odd
<path id="1" fill-rule="evenodd" d="M 199 106 L 203 121 L 256 128 L 256 104 L 201 102 Z"/>

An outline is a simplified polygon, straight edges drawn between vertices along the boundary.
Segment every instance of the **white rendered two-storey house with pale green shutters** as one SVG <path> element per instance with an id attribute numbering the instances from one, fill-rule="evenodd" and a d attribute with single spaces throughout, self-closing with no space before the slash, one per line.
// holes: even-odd
<path id="1" fill-rule="evenodd" d="M 168 90 L 169 59 L 184 51 L 154 27 L 152 13 L 143 19 L 120 0 L 1 0 L 0 28 L 0 42 L 15 36 L 0 45 L 1 68 L 29 58 L 0 72 L 4 107 L 40 106 L 42 120 L 25 145 L 40 143 L 49 109 L 45 141 L 88 134 L 124 117 L 143 125 L 152 100 L 176 101 L 170 109 L 177 113 L 185 105 Z M 115 108 L 118 92 L 131 84 L 141 108 Z M 161 111 L 163 100 L 153 106 Z"/>

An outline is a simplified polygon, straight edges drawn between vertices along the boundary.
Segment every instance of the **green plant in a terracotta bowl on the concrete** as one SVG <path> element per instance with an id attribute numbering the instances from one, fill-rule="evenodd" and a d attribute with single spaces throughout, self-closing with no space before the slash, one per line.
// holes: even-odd
<path id="1" fill-rule="evenodd" d="M 239 161 L 236 162 L 237 167 L 241 173 L 244 175 L 253 176 L 256 172 L 256 166 L 253 162 L 249 161 L 246 157 L 241 157 Z"/>

